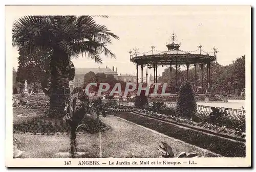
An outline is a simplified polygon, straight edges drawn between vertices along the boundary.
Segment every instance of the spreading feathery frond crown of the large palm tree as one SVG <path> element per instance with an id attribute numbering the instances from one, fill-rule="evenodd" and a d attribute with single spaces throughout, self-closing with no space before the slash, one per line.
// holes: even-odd
<path id="1" fill-rule="evenodd" d="M 92 16 L 24 16 L 14 21 L 12 31 L 13 46 L 28 54 L 60 48 L 69 57 L 88 55 L 95 62 L 101 62 L 102 52 L 115 57 L 106 44 L 112 43 L 111 37 L 119 39 Z"/>

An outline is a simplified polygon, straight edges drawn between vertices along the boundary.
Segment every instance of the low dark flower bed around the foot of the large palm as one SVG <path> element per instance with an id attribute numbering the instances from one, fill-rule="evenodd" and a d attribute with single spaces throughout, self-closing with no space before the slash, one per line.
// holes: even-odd
<path id="1" fill-rule="evenodd" d="M 95 116 L 86 116 L 81 123 L 86 124 L 86 128 L 79 128 L 78 132 L 96 133 L 99 130 Z M 100 121 L 100 129 L 107 131 L 110 127 Z M 70 126 L 62 119 L 47 117 L 47 113 L 41 109 L 16 109 L 13 114 L 13 132 L 48 135 L 49 133 L 70 132 Z"/>

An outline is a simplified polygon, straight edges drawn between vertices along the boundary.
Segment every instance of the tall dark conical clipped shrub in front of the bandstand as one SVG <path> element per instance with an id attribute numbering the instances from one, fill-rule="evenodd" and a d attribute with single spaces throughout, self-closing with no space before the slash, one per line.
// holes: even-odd
<path id="1" fill-rule="evenodd" d="M 176 111 L 179 115 L 192 117 L 197 112 L 197 103 L 192 85 L 188 81 L 181 84 L 179 95 L 177 97 Z"/>

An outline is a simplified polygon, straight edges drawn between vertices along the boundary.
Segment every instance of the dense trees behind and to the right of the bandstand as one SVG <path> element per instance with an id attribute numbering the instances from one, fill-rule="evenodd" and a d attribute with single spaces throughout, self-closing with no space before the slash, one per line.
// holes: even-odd
<path id="1" fill-rule="evenodd" d="M 207 88 L 207 68 L 203 65 L 203 90 Z M 218 62 L 210 64 L 210 80 L 212 93 L 228 93 L 234 94 L 238 89 L 238 94 L 245 88 L 245 55 L 237 58 L 227 66 L 220 65 Z M 201 86 L 201 64 L 197 65 L 197 86 Z M 191 67 L 188 71 L 191 83 L 195 83 L 195 66 Z M 187 71 L 178 68 L 178 85 L 187 79 Z M 172 85 L 176 85 L 176 69 L 172 68 Z M 170 83 L 170 69 L 164 69 L 162 76 L 158 79 L 161 83 Z"/>

